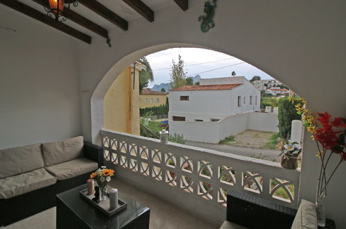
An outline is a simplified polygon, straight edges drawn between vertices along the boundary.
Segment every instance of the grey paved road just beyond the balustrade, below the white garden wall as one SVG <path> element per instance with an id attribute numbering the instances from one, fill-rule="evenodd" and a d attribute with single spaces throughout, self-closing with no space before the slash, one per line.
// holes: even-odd
<path id="1" fill-rule="evenodd" d="M 189 146 L 198 146 L 200 148 L 205 149 L 214 149 L 215 151 L 221 151 L 225 153 L 234 153 L 236 155 L 243 155 L 243 156 L 259 156 L 261 155 L 261 159 L 263 160 L 276 160 L 276 162 L 279 162 L 280 157 L 278 156 L 280 151 L 275 149 L 254 149 L 254 148 L 247 148 L 247 147 L 239 147 L 239 146 L 230 146 L 225 144 L 211 144 L 211 143 L 202 143 L 202 142 L 186 142 Z"/>

